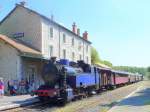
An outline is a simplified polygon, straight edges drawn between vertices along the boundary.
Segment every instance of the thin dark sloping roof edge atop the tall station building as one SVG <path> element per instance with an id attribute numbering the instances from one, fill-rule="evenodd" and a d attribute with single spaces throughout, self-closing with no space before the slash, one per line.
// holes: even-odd
<path id="1" fill-rule="evenodd" d="M 22 7 L 22 8 L 24 8 L 24 9 L 26 9 L 26 10 L 28 10 L 28 11 L 30 11 L 30 12 L 32 12 L 32 13 L 38 15 L 38 16 L 40 16 L 41 18 L 43 18 L 43 19 L 45 19 L 45 20 L 47 20 L 47 21 L 49 21 L 49 22 L 51 22 L 51 23 L 57 25 L 58 27 L 61 27 L 62 29 L 66 30 L 66 31 L 68 31 L 69 33 L 73 34 L 74 36 L 76 36 L 76 37 L 78 37 L 78 38 L 84 40 L 85 42 L 91 44 L 90 41 L 88 41 L 88 40 L 84 39 L 83 37 L 77 35 L 76 33 L 72 32 L 71 30 L 69 30 L 68 28 L 64 27 L 63 25 L 60 25 L 59 23 L 57 23 L 57 22 L 55 22 L 55 21 L 52 21 L 50 18 L 48 18 L 48 17 L 46 17 L 46 16 L 44 16 L 44 15 L 42 15 L 42 14 L 40 14 L 40 13 L 34 11 L 34 10 L 31 10 L 31 9 L 29 9 L 29 8 L 27 8 L 27 7 L 24 7 L 24 6 L 20 5 L 20 4 L 16 4 L 16 7 L 0 22 L 0 24 L 2 24 L 2 23 L 5 21 L 5 19 L 7 19 L 7 17 L 9 17 L 9 16 L 16 10 L 17 7 Z"/>

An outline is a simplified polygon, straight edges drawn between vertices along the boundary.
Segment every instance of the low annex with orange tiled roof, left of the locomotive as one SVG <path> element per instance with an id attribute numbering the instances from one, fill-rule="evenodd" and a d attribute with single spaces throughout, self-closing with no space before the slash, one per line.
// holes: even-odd
<path id="1" fill-rule="evenodd" d="M 21 79 L 34 83 L 33 88 L 37 89 L 43 83 L 41 58 L 39 51 L 0 34 L 0 77 L 4 80 L 5 90 L 8 90 L 8 81 L 19 84 Z"/>

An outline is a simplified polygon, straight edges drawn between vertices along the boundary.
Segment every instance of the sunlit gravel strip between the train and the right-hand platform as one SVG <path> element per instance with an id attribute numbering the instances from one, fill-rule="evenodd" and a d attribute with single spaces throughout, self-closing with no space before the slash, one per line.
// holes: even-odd
<path id="1" fill-rule="evenodd" d="M 52 112 L 107 112 L 107 110 L 117 104 L 119 100 L 143 84 L 143 82 L 139 82 L 112 91 L 106 91 L 101 95 L 68 104 Z"/>

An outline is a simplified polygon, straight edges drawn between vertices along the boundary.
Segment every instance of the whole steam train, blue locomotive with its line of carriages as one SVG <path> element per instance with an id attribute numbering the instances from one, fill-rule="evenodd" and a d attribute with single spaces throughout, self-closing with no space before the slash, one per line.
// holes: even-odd
<path id="1" fill-rule="evenodd" d="M 35 90 L 34 94 L 41 101 L 64 104 L 99 93 L 104 88 L 112 89 L 141 81 L 143 76 L 90 66 L 83 61 L 75 63 L 67 60 L 56 61 L 56 58 L 52 58 L 43 66 L 42 78 L 45 84 Z"/>

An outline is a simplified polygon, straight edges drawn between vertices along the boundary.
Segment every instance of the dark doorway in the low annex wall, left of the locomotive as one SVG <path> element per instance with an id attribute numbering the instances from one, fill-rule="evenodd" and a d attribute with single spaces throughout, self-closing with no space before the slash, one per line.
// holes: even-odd
<path id="1" fill-rule="evenodd" d="M 29 66 L 28 73 L 27 73 L 27 80 L 29 84 L 35 83 L 35 75 L 36 75 L 36 67 L 35 66 Z M 33 89 L 36 89 L 35 87 Z"/>

